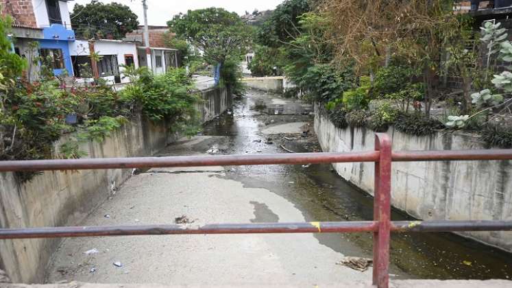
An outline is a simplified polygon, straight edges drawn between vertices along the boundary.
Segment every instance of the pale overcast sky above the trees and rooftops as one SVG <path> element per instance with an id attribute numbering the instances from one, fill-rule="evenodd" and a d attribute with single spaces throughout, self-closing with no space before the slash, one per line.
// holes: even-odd
<path id="1" fill-rule="evenodd" d="M 171 20 L 175 14 L 212 6 L 224 8 L 225 10 L 241 15 L 244 14 L 245 11 L 250 13 L 255 9 L 260 11 L 274 9 L 282 1 L 283 0 L 147 0 L 147 22 L 149 25 L 166 25 L 167 21 Z M 141 0 L 100 0 L 100 2 L 117 2 L 128 5 L 132 11 L 137 14 L 138 22 L 141 23 L 141 25 L 144 23 Z M 69 1 L 68 5 L 70 11 L 73 10 L 73 6 L 76 3 L 85 5 L 86 3 L 90 3 L 90 0 Z"/>

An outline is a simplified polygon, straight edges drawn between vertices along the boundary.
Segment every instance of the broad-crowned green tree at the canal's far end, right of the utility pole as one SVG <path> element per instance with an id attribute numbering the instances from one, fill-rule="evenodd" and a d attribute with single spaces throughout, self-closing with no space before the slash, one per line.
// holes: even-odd
<path id="1" fill-rule="evenodd" d="M 210 64 L 239 60 L 251 43 L 252 31 L 234 12 L 222 8 L 188 10 L 178 14 L 167 25 L 178 37 L 204 51 Z"/>

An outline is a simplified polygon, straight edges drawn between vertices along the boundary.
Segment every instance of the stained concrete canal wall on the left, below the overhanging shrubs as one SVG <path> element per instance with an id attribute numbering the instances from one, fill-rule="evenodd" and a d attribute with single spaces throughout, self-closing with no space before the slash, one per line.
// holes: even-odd
<path id="1" fill-rule="evenodd" d="M 209 121 L 231 106 L 226 88 L 202 91 L 200 119 Z M 113 131 L 101 143 L 83 143 L 87 158 L 149 156 L 177 136 L 169 123 L 152 123 L 138 115 Z M 63 143 L 66 137 L 56 143 Z M 117 191 L 132 169 L 45 171 L 28 182 L 14 173 L 0 173 L 0 225 L 2 228 L 73 226 Z M 0 269 L 18 283 L 41 283 L 60 239 L 0 240 Z M 77 252 L 80 253 L 80 252 Z"/>

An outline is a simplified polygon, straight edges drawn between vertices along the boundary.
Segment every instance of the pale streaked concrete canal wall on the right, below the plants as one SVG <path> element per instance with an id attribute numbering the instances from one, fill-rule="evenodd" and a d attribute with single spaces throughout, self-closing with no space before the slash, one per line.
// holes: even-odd
<path id="1" fill-rule="evenodd" d="M 324 152 L 374 149 L 374 132 L 336 128 L 315 111 L 315 132 Z M 413 136 L 389 128 L 393 150 L 485 149 L 474 134 L 439 132 Z M 340 176 L 374 193 L 374 163 L 337 163 Z M 424 220 L 512 221 L 512 161 L 435 161 L 393 163 L 391 201 L 395 208 Z M 462 232 L 461 235 L 512 252 L 512 232 Z"/>

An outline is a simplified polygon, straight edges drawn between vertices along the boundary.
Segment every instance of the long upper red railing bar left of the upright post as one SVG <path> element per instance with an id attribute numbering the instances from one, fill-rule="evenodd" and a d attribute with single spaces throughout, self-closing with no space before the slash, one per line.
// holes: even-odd
<path id="1" fill-rule="evenodd" d="M 45 171 L 112 168 L 199 167 L 224 165 L 273 165 L 341 162 L 374 162 L 378 151 L 343 153 L 293 153 L 219 156 L 171 156 L 133 158 L 82 158 L 60 160 L 0 161 L 2 171 Z"/>

